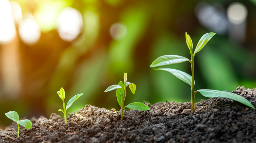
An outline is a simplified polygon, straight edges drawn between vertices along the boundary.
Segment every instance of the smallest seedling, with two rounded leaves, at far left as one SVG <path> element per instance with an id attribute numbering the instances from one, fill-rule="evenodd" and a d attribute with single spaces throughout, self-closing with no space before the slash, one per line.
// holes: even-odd
<path id="1" fill-rule="evenodd" d="M 14 122 L 17 123 L 17 125 L 18 125 L 18 137 L 20 135 L 20 125 L 22 125 L 26 129 L 30 129 L 32 127 L 32 122 L 28 119 L 24 119 L 24 120 L 19 121 L 20 117 L 19 117 L 18 113 L 15 112 L 15 111 L 7 112 L 7 113 L 5 113 L 5 115 L 9 119 L 11 119 L 11 120 L 13 120 Z"/>

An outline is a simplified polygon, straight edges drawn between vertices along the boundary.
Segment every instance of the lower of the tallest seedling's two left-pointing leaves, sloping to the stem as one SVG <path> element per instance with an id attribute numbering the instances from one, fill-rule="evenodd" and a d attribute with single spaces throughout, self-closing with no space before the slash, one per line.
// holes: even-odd
<path id="1" fill-rule="evenodd" d="M 154 69 L 154 70 L 169 71 L 174 76 L 176 76 L 180 80 L 184 81 L 185 83 L 187 83 L 189 85 L 192 84 L 192 76 L 187 74 L 186 72 L 179 71 L 179 70 L 176 70 L 176 69 Z M 195 85 L 195 82 L 194 82 L 194 85 Z"/>

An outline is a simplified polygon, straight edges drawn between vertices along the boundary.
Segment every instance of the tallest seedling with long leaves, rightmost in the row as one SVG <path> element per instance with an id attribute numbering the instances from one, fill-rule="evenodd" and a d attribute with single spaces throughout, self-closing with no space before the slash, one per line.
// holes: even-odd
<path id="1" fill-rule="evenodd" d="M 186 38 L 186 43 L 187 46 L 190 50 L 190 56 L 191 60 L 183 57 L 183 56 L 177 56 L 177 55 L 165 55 L 165 56 L 160 56 L 158 57 L 155 61 L 152 62 L 150 67 L 158 67 L 158 66 L 165 66 L 165 65 L 171 65 L 171 64 L 177 64 L 177 63 L 182 63 L 185 61 L 189 61 L 191 63 L 191 71 L 192 71 L 192 76 L 187 74 L 186 72 L 179 71 L 176 69 L 154 69 L 154 70 L 162 70 L 162 71 L 169 71 L 172 73 L 174 76 L 182 80 L 183 82 L 189 84 L 191 86 L 191 109 L 195 112 L 195 106 L 194 106 L 194 98 L 195 94 L 197 92 L 200 92 L 203 96 L 205 97 L 222 97 L 222 98 L 230 98 L 235 101 L 238 101 L 240 103 L 243 103 L 253 109 L 254 106 L 245 98 L 242 96 L 239 96 L 237 94 L 231 93 L 231 92 L 226 92 L 226 91 L 219 91 L 219 90 L 210 90 L 210 89 L 200 89 L 197 91 L 194 91 L 194 85 L 195 85 L 195 75 L 194 75 L 194 57 L 196 53 L 198 53 L 204 45 L 215 35 L 215 33 L 206 33 L 203 35 L 203 37 L 199 40 L 196 49 L 193 54 L 193 43 L 190 38 L 190 36 L 185 33 L 185 38 Z"/>

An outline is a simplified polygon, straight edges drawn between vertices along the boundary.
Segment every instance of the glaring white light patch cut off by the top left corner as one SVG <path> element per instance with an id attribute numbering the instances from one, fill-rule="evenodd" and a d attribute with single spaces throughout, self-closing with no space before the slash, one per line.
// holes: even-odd
<path id="1" fill-rule="evenodd" d="M 0 0 L 0 43 L 8 43 L 16 35 L 11 4 L 8 0 Z"/>

